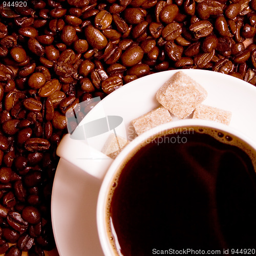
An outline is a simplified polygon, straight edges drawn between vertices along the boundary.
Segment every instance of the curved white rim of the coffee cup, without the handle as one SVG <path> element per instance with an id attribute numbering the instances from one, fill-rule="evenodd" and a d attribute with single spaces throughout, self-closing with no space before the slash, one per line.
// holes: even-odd
<path id="1" fill-rule="evenodd" d="M 105 220 L 105 207 L 106 207 L 106 199 L 108 197 L 111 181 L 116 175 L 116 172 L 121 166 L 121 163 L 123 162 L 123 160 L 126 158 L 127 155 L 132 153 L 137 146 L 142 144 L 148 138 L 152 138 L 164 131 L 169 131 L 170 129 L 175 129 L 175 128 L 180 129 L 182 127 L 193 127 L 193 126 L 202 126 L 202 127 L 216 129 L 218 131 L 223 131 L 234 137 L 239 138 L 240 140 L 249 144 L 252 148 L 254 148 L 254 150 L 256 150 L 256 142 L 252 141 L 249 137 L 241 133 L 239 130 L 223 123 L 218 123 L 215 121 L 203 120 L 203 119 L 182 119 L 174 122 L 164 123 L 136 137 L 133 141 L 131 141 L 129 144 L 125 146 L 125 148 L 120 152 L 120 154 L 112 162 L 111 166 L 106 172 L 106 175 L 100 187 L 98 201 L 97 201 L 96 219 L 97 219 L 98 236 L 99 236 L 101 248 L 105 256 L 115 256 L 115 253 L 113 252 L 111 243 L 107 236 L 108 232 L 107 232 L 106 220 Z"/>

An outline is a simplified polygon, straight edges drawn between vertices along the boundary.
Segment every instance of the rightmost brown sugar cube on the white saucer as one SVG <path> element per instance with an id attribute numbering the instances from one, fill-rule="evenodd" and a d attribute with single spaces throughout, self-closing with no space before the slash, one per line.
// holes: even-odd
<path id="1" fill-rule="evenodd" d="M 212 120 L 224 124 L 229 124 L 232 113 L 230 111 L 214 108 L 200 104 L 196 107 L 193 118 Z"/>

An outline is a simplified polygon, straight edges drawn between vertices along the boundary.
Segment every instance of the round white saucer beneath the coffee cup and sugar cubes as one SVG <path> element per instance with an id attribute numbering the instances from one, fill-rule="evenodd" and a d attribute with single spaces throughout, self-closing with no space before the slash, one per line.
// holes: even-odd
<path id="1" fill-rule="evenodd" d="M 155 98 L 157 90 L 176 72 L 160 72 L 126 84 L 101 101 L 105 114 L 123 117 L 129 135 L 131 120 L 159 105 Z M 231 111 L 229 125 L 256 142 L 256 87 L 213 71 L 183 72 L 198 81 L 208 92 L 204 104 Z M 93 115 L 93 110 L 90 115 Z M 60 159 L 51 204 L 53 232 L 60 256 L 103 256 L 96 227 L 100 185 L 101 181 Z"/>

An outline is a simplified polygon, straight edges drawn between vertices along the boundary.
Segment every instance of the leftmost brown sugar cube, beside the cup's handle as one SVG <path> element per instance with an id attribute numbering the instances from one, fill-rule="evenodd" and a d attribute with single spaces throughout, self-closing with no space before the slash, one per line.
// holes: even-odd
<path id="1" fill-rule="evenodd" d="M 115 136 L 115 134 L 113 133 L 106 140 L 101 152 L 115 159 L 128 143 L 129 141 L 121 136 Z"/>

